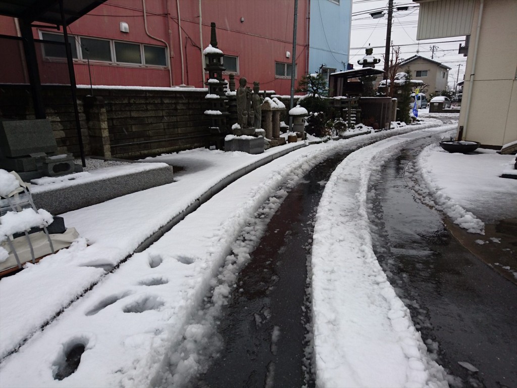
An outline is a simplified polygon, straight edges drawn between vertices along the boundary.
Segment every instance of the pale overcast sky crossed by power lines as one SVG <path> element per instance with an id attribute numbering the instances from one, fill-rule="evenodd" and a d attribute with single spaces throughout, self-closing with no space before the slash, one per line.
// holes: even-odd
<path id="1" fill-rule="evenodd" d="M 405 11 L 398 11 L 397 7 L 409 7 Z M 379 19 L 373 19 L 371 12 L 384 11 L 385 15 Z M 388 14 L 388 0 L 353 0 L 352 3 L 352 35 L 350 41 L 350 63 L 354 68 L 360 67 L 357 61 L 364 55 L 364 48 L 369 44 L 374 48 L 373 54 L 379 58 L 384 55 L 386 47 L 386 25 Z M 393 46 L 400 46 L 402 58 L 418 55 L 430 58 L 434 46 L 433 59 L 449 66 L 449 87 L 454 88 L 458 76 L 463 79 L 467 57 L 458 54 L 460 43 L 464 43 L 465 37 L 452 37 L 430 40 L 416 40 L 418 23 L 418 5 L 411 0 L 394 0 L 393 22 L 391 28 L 391 41 Z M 382 69 L 383 62 L 375 66 Z"/>

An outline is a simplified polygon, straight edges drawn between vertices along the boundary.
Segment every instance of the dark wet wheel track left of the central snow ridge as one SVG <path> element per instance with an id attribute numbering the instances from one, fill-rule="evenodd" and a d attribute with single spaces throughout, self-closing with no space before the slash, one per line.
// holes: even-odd
<path id="1" fill-rule="evenodd" d="M 307 261 L 313 219 L 325 183 L 346 154 L 312 169 L 268 224 L 223 310 L 220 357 L 197 386 L 210 388 L 314 386 L 307 334 Z"/>

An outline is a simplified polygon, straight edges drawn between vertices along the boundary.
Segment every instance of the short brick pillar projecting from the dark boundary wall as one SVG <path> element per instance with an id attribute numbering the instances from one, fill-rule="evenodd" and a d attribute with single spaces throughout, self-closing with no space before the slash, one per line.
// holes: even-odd
<path id="1" fill-rule="evenodd" d="M 102 97 L 84 97 L 84 113 L 88 125 L 90 152 L 95 156 L 111 158 L 108 118 Z"/>

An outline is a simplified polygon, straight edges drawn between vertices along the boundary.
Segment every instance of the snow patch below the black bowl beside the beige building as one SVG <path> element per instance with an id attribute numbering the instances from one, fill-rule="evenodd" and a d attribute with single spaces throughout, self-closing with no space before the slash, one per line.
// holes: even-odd
<path id="1" fill-rule="evenodd" d="M 434 205 L 470 233 L 484 234 L 484 222 L 517 217 L 515 181 L 500 178 L 515 156 L 478 148 L 448 153 L 430 145 L 418 157 Z M 474 171 L 474 173 L 473 173 Z"/>

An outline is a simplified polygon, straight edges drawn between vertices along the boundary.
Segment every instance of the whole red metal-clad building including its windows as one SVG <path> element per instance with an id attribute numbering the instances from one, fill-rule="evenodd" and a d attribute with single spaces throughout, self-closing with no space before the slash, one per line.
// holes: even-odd
<path id="1" fill-rule="evenodd" d="M 202 51 L 215 22 L 228 74 L 289 94 L 294 5 L 294 0 L 108 0 L 69 26 L 77 84 L 89 85 L 91 79 L 93 85 L 204 87 Z M 296 84 L 307 72 L 308 22 L 308 0 L 299 0 Z M 36 39 L 63 41 L 52 27 L 33 31 Z M 19 35 L 16 20 L 0 17 L 0 34 Z M 51 44 L 40 51 L 43 63 L 64 59 Z M 52 80 L 49 75 L 46 82 Z"/>

